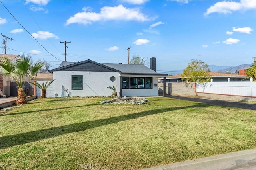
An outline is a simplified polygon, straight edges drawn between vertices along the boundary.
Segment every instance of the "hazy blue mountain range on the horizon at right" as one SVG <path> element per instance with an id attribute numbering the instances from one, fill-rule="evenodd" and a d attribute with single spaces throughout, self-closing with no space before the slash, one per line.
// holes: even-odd
<path id="1" fill-rule="evenodd" d="M 249 68 L 250 66 L 252 66 L 254 63 L 252 64 L 242 64 L 239 66 L 216 66 L 216 65 L 209 65 L 209 68 L 212 72 L 222 72 L 222 73 L 231 73 L 231 74 L 235 74 L 235 72 L 237 70 L 241 70 L 241 69 L 246 69 Z M 170 72 L 168 72 L 167 74 L 172 74 L 172 75 L 176 75 L 176 74 L 182 74 L 183 69 L 182 70 L 172 70 Z"/>

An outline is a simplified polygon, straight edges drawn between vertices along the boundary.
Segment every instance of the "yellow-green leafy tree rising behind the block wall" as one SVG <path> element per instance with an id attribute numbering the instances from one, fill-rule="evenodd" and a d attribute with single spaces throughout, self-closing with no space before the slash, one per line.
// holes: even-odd
<path id="1" fill-rule="evenodd" d="M 209 66 L 201 60 L 192 60 L 181 74 L 182 81 L 208 82 L 210 81 Z"/>

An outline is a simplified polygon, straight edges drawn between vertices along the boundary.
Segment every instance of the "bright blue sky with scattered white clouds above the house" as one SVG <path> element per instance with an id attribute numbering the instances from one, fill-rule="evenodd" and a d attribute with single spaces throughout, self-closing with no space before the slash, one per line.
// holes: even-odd
<path id="1" fill-rule="evenodd" d="M 60 41 L 71 42 L 67 61 L 128 63 L 131 47 L 130 58 L 156 57 L 156 70 L 166 73 L 184 69 L 191 59 L 237 66 L 256 57 L 255 0 L 1 2 L 1 33 L 14 39 L 7 41 L 7 54 L 31 53 L 52 68 L 64 61 Z"/>

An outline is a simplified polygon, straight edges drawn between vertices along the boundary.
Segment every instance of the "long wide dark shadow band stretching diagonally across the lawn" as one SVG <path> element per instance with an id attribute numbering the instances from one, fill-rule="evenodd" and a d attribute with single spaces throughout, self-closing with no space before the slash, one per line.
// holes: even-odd
<path id="1" fill-rule="evenodd" d="M 149 110 L 149 111 L 142 111 L 140 113 L 132 113 L 129 115 L 121 115 L 121 116 L 110 117 L 110 118 L 106 118 L 106 119 L 86 121 L 86 122 L 81 122 L 81 123 L 74 123 L 74 124 L 70 124 L 70 125 L 42 129 L 42 130 L 38 130 L 38 131 L 30 131 L 30 132 L 15 134 L 15 135 L 3 136 L 3 137 L 1 137 L 0 148 L 13 147 L 16 145 L 22 145 L 25 143 L 35 142 L 35 141 L 39 141 L 42 139 L 47 139 L 47 138 L 56 137 L 59 135 L 64 135 L 67 133 L 85 131 L 86 129 L 109 125 L 112 123 L 118 123 L 121 121 L 130 120 L 130 119 L 136 119 L 136 118 L 144 117 L 144 116 L 148 116 L 148 115 L 154 115 L 154 114 L 158 114 L 158 113 L 164 113 L 164 112 L 175 111 L 175 110 L 180 110 L 180 109 L 208 107 L 208 106 L 210 106 L 210 105 L 195 104 L 192 106 L 185 106 L 185 107 L 155 109 L 155 110 Z"/>

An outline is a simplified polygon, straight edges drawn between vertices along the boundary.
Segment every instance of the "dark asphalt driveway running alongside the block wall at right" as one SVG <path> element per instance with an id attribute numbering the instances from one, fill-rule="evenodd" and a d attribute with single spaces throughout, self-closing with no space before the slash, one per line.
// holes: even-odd
<path id="1" fill-rule="evenodd" d="M 180 100 L 189 100 L 189 101 L 218 105 L 218 106 L 228 106 L 228 107 L 237 107 L 237 108 L 242 108 L 242 109 L 256 110 L 256 104 L 249 104 L 249 103 L 244 103 L 244 102 L 228 102 L 228 101 L 223 101 L 223 100 L 188 98 L 188 97 L 170 96 L 170 95 L 166 95 L 165 97 L 180 99 Z"/>

